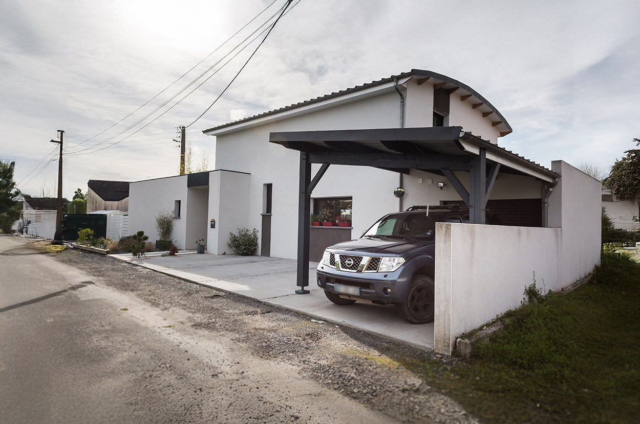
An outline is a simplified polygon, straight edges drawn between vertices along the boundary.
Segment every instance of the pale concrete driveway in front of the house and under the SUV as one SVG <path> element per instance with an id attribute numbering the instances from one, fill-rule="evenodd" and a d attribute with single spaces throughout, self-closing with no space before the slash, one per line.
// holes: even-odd
<path id="1" fill-rule="evenodd" d="M 296 262 L 263 256 L 198 255 L 186 252 L 177 256 L 147 254 L 134 259 L 131 254 L 111 255 L 132 264 L 176 276 L 212 289 L 257 299 L 322 321 L 334 322 L 397 340 L 420 349 L 433 350 L 433 322 L 410 324 L 396 315 L 392 305 L 356 302 L 334 305 L 316 285 L 317 262 L 309 269 L 309 294 L 295 294 Z"/>

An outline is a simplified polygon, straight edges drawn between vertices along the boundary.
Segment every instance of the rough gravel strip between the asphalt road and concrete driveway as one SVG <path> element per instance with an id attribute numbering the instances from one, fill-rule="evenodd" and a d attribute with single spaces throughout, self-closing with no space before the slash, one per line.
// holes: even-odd
<path id="1" fill-rule="evenodd" d="M 205 331 L 246 363 L 267 361 L 293 367 L 303 380 L 401 422 L 477 422 L 410 370 L 426 361 L 447 370 L 456 358 L 419 351 L 104 255 L 72 249 L 55 257 L 94 275 L 97 286 L 133 294 L 154 310 L 175 312 L 184 318 L 169 320 L 167 327 L 200 336 Z"/>

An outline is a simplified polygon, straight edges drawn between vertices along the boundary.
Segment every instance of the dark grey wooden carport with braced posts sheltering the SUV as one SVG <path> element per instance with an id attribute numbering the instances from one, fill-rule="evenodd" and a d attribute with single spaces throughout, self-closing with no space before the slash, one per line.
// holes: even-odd
<path id="1" fill-rule="evenodd" d="M 464 132 L 461 126 L 272 132 L 269 142 L 300 151 L 297 294 L 307 294 L 311 193 L 330 165 L 357 165 L 408 174 L 410 169 L 445 176 L 470 211 L 471 223 L 484 223 L 486 202 L 499 172 L 543 181 L 543 227 L 547 199 L 559 174 L 522 156 Z M 312 163 L 321 167 L 311 176 Z M 455 171 L 468 173 L 469 190 Z"/>

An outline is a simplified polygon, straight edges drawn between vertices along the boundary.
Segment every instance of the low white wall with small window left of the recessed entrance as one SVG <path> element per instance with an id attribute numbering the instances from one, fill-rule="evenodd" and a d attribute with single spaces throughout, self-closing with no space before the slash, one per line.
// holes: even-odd
<path id="1" fill-rule="evenodd" d="M 179 249 L 186 248 L 186 216 L 188 216 L 186 175 L 148 179 L 129 184 L 129 235 L 142 230 L 149 237 L 148 241 L 155 243 L 158 238 L 157 213 L 166 210 L 173 212 L 174 202 L 178 200 L 180 201 L 180 218 L 173 220 L 172 239 Z"/>

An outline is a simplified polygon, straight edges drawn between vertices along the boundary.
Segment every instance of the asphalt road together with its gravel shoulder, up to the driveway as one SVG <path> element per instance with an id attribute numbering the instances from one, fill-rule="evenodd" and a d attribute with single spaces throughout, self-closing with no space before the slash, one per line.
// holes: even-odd
<path id="1" fill-rule="evenodd" d="M 404 367 L 429 353 L 25 243 L 0 236 L 4 424 L 477 422 Z"/>

